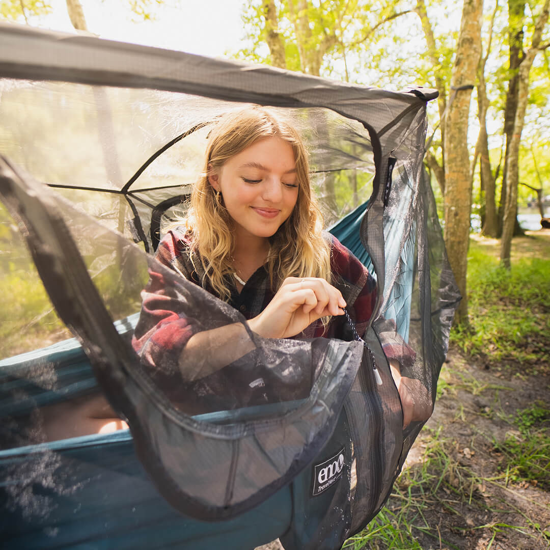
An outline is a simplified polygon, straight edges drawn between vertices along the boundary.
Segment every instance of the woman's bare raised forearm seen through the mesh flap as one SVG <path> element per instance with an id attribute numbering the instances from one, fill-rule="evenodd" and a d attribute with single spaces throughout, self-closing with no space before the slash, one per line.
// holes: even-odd
<path id="1" fill-rule="evenodd" d="M 255 347 L 242 323 L 197 332 L 179 356 L 179 370 L 186 382 L 193 382 L 237 361 Z"/>

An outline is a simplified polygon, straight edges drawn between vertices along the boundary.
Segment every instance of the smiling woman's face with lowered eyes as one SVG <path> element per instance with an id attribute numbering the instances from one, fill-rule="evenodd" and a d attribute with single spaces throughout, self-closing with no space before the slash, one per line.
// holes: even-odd
<path id="1" fill-rule="evenodd" d="M 223 195 L 236 224 L 236 237 L 271 237 L 298 200 L 292 146 L 273 136 L 256 141 L 208 177 Z"/>

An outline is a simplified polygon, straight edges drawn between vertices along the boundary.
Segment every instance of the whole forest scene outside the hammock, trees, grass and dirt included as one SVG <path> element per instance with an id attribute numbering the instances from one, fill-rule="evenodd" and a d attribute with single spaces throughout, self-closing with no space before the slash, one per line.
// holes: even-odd
<path id="1" fill-rule="evenodd" d="M 101 35 L 100 28 L 86 23 L 92 20 L 87 10 L 105 19 L 113 4 L 136 28 L 146 29 L 161 23 L 163 10 L 193 10 L 196 3 L 2 0 L 0 17 L 48 26 L 48 18 L 63 10 L 76 29 Z M 425 162 L 464 296 L 439 392 L 443 404 L 460 397 L 461 408 L 449 405 L 449 417 L 428 424 L 427 436 L 417 447 L 420 465 L 405 471 L 386 516 L 379 516 L 364 537 L 348 543 L 350 547 L 427 548 L 426 541 L 434 548 L 550 547 L 550 243 L 548 230 L 520 237 L 518 223 L 518 215 L 529 214 L 535 226 L 537 219 L 550 215 L 549 4 L 232 4 L 240 7 L 241 23 L 238 31 L 230 31 L 238 42 L 227 48 L 226 57 L 386 89 L 415 85 L 439 92 L 438 100 L 428 104 Z M 214 13 L 210 11 L 202 26 L 211 42 L 224 32 L 213 25 Z M 180 49 L 177 40 L 169 46 Z M 350 180 L 345 185 L 354 200 L 359 183 Z M 520 406 L 518 395 L 503 397 L 518 389 L 524 397 L 532 393 L 529 406 Z M 482 426 L 487 419 L 493 428 L 507 429 L 491 431 Z M 453 426 L 450 439 L 443 437 L 442 427 L 452 422 L 459 426 Z M 474 430 L 470 433 L 460 423 Z M 486 464 L 493 466 L 488 470 L 475 464 L 474 436 L 481 431 L 485 443 L 477 456 L 485 453 Z M 499 508 L 511 494 L 513 521 L 503 519 L 512 513 L 508 504 Z M 447 516 L 434 515 L 438 504 Z"/>

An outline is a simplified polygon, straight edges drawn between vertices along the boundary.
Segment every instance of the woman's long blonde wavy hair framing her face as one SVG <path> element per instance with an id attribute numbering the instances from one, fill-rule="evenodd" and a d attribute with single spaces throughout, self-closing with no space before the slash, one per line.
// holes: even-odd
<path id="1" fill-rule="evenodd" d="M 287 277 L 322 277 L 331 282 L 330 248 L 322 235 L 321 211 L 311 194 L 308 155 L 303 141 L 293 125 L 276 112 L 251 107 L 224 115 L 211 130 L 204 172 L 191 191 L 191 205 L 184 219 L 191 249 L 199 252 L 205 277 L 223 300 L 230 298 L 224 276 L 235 271 L 234 221 L 223 200 L 216 199 L 208 174 L 219 173 L 230 158 L 256 141 L 272 136 L 292 147 L 298 200 L 290 217 L 269 239 L 266 267 L 271 289 L 277 292 Z"/>

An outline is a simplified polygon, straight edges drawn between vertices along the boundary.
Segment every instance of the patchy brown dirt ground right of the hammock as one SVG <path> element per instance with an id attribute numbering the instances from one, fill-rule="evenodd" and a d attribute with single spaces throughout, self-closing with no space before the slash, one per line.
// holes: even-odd
<path id="1" fill-rule="evenodd" d="M 434 472 L 439 487 L 430 497 L 433 505 L 422 508 L 420 527 L 430 526 L 431 533 L 412 529 L 412 534 L 425 549 L 550 548 L 548 487 L 516 478 L 499 448 L 507 439 L 521 438 L 514 423 L 518 410 L 536 401 L 550 409 L 550 378 L 525 374 L 520 365 L 487 370 L 451 349 L 442 380 L 448 386 L 406 466 L 414 470 L 430 460 L 426 449 L 434 437 L 448 461 L 445 471 Z M 388 503 L 390 509 L 395 505 L 399 501 Z"/>

